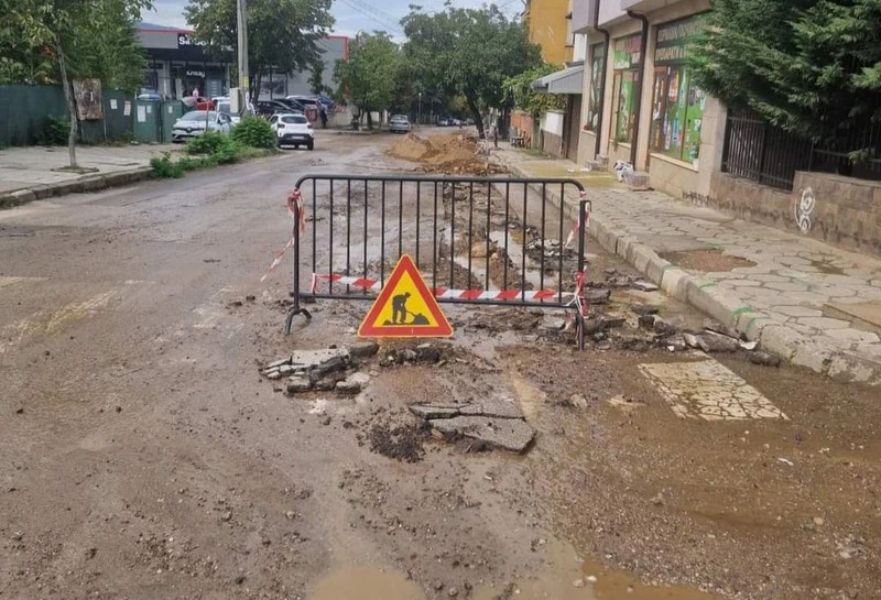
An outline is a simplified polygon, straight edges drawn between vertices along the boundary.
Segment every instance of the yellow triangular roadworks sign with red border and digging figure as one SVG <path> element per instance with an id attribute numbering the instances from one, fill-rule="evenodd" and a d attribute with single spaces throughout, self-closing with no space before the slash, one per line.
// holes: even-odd
<path id="1" fill-rule="evenodd" d="M 453 335 L 413 259 L 404 254 L 358 328 L 361 338 L 448 338 Z"/>

